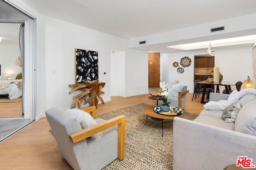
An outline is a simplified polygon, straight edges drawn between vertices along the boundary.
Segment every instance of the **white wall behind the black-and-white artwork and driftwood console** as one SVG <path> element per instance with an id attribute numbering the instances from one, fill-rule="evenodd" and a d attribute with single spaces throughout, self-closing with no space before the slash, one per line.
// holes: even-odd
<path id="1" fill-rule="evenodd" d="M 76 92 L 69 94 L 75 83 L 74 49 L 98 51 L 99 82 L 106 82 L 102 89 L 104 102 L 110 101 L 110 51 L 125 51 L 127 40 L 88 29 L 72 23 L 46 17 L 45 22 L 45 100 L 50 107 L 70 107 Z M 55 71 L 55 74 L 53 74 Z M 100 102 L 99 102 L 100 103 Z M 42 110 L 44 111 L 44 110 Z"/>

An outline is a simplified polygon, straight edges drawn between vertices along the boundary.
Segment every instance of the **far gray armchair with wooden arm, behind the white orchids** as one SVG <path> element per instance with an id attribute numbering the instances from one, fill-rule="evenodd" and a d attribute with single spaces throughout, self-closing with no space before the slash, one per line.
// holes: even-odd
<path id="1" fill-rule="evenodd" d="M 167 101 L 171 102 L 171 106 L 180 107 L 182 109 L 185 109 L 185 102 L 186 102 L 186 96 L 189 90 L 187 90 L 187 86 L 183 86 L 183 89 L 181 92 L 178 92 L 178 97 L 174 96 L 167 96 Z M 157 101 L 158 106 L 163 104 L 162 100 Z"/>

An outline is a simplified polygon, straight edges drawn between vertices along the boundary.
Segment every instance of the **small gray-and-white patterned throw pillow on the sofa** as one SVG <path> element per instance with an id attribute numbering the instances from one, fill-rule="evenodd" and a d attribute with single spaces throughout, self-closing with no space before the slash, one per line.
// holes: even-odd
<path id="1" fill-rule="evenodd" d="M 240 111 L 240 109 L 241 109 L 241 107 L 238 102 L 230 104 L 222 112 L 222 117 L 223 117 L 224 121 L 234 123 L 236 121 L 236 116 L 237 116 L 238 112 Z"/>

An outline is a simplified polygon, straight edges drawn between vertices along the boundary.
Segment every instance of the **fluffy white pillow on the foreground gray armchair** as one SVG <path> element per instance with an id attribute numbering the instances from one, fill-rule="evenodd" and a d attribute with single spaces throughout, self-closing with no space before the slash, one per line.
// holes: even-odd
<path id="1" fill-rule="evenodd" d="M 97 125 L 96 121 L 92 118 L 90 113 L 82 111 L 80 109 L 66 109 L 66 112 L 74 115 L 76 119 L 78 119 L 82 129 L 86 129 L 87 127 Z M 92 140 L 98 141 L 102 137 L 102 132 L 96 133 L 91 136 Z"/>

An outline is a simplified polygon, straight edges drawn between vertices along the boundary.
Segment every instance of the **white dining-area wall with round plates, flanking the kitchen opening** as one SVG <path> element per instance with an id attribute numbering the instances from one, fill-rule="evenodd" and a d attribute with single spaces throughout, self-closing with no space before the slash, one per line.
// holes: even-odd
<path id="1" fill-rule="evenodd" d="M 247 76 L 250 76 L 251 80 L 256 82 L 253 78 L 253 59 L 252 59 L 252 46 L 249 47 L 236 47 L 226 49 L 214 49 L 215 51 L 215 66 L 220 67 L 220 72 L 223 75 L 222 81 L 244 81 Z M 180 84 L 188 86 L 190 93 L 194 92 L 194 55 L 205 54 L 204 51 L 193 51 L 183 53 L 170 53 L 169 54 L 169 82 L 174 80 L 180 80 Z M 172 66 L 175 61 L 180 63 L 182 57 L 190 57 L 192 64 L 184 68 L 182 74 L 177 72 L 178 67 Z M 236 90 L 235 86 L 231 86 L 233 90 Z M 220 92 L 224 90 L 224 86 L 220 86 Z"/>

